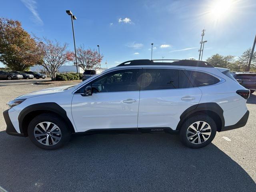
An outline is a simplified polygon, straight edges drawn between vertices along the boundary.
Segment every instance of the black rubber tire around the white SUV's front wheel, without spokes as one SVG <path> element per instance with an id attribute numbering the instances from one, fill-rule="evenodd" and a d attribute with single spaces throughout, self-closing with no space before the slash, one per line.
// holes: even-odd
<path id="1" fill-rule="evenodd" d="M 38 138 L 37 139 L 36 136 L 34 136 L 34 129 L 41 122 L 51 122 L 52 124 L 55 124 L 56 126 L 58 126 L 58 128 L 60 129 L 60 132 L 61 132 L 61 138 L 60 138 L 60 140 L 58 140 L 58 142 L 56 144 L 53 144 L 53 142 L 50 141 L 51 140 L 50 138 L 49 138 L 49 143 L 52 145 L 42 144 L 38 141 L 39 139 L 41 139 L 41 137 L 37 137 Z M 49 132 L 50 128 L 51 127 L 48 128 L 48 132 Z M 44 114 L 40 114 L 40 115 L 36 116 L 29 123 L 28 137 L 30 138 L 32 143 L 34 143 L 39 148 L 46 149 L 46 150 L 55 150 L 55 149 L 61 148 L 62 146 L 64 146 L 64 144 L 66 144 L 70 140 L 71 132 L 68 129 L 68 127 L 66 126 L 66 123 L 60 117 L 58 117 L 55 114 L 44 113 Z M 44 136 L 42 136 L 42 138 L 43 137 Z"/>

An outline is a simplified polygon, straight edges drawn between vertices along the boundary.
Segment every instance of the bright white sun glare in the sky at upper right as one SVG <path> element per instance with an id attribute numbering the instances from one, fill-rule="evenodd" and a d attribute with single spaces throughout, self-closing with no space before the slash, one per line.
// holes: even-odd
<path id="1" fill-rule="evenodd" d="M 210 14 L 214 20 L 219 20 L 227 16 L 232 11 L 232 0 L 218 0 L 214 2 L 210 9 Z"/>

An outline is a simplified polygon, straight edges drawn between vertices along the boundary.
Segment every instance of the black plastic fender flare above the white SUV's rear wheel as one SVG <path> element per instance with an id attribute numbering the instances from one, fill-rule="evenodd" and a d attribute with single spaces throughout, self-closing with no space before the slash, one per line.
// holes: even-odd
<path id="1" fill-rule="evenodd" d="M 205 112 L 205 111 L 214 112 L 215 114 L 218 115 L 218 117 L 221 120 L 221 122 L 220 122 L 221 129 L 220 130 L 222 130 L 224 128 L 224 125 L 225 125 L 225 120 L 224 120 L 224 116 L 223 116 L 223 109 L 218 104 L 213 103 L 213 102 L 200 103 L 200 104 L 196 104 L 196 105 L 193 105 L 193 106 L 187 108 L 180 115 L 180 122 L 178 123 L 178 126 L 177 126 L 176 130 L 179 130 L 181 125 L 183 124 L 183 122 L 186 120 L 186 118 L 188 118 L 192 114 L 194 114 L 196 112 Z"/>

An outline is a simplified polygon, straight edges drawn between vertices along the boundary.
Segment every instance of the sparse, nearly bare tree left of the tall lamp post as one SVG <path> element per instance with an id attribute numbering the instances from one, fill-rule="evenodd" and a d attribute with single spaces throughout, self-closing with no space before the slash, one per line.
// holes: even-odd
<path id="1" fill-rule="evenodd" d="M 52 80 L 56 80 L 56 74 L 60 66 L 68 62 L 70 52 L 67 51 L 67 43 L 63 45 L 56 41 L 53 42 L 47 38 L 37 38 L 40 46 L 41 58 L 40 65 L 49 72 Z"/>

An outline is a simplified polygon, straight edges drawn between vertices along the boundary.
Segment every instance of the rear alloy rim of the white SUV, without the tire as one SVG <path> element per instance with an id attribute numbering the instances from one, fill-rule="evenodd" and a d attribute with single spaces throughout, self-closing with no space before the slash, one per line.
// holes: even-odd
<path id="1" fill-rule="evenodd" d="M 210 138 L 211 131 L 211 127 L 208 123 L 197 121 L 188 127 L 186 136 L 188 141 L 192 144 L 201 144 Z"/>

